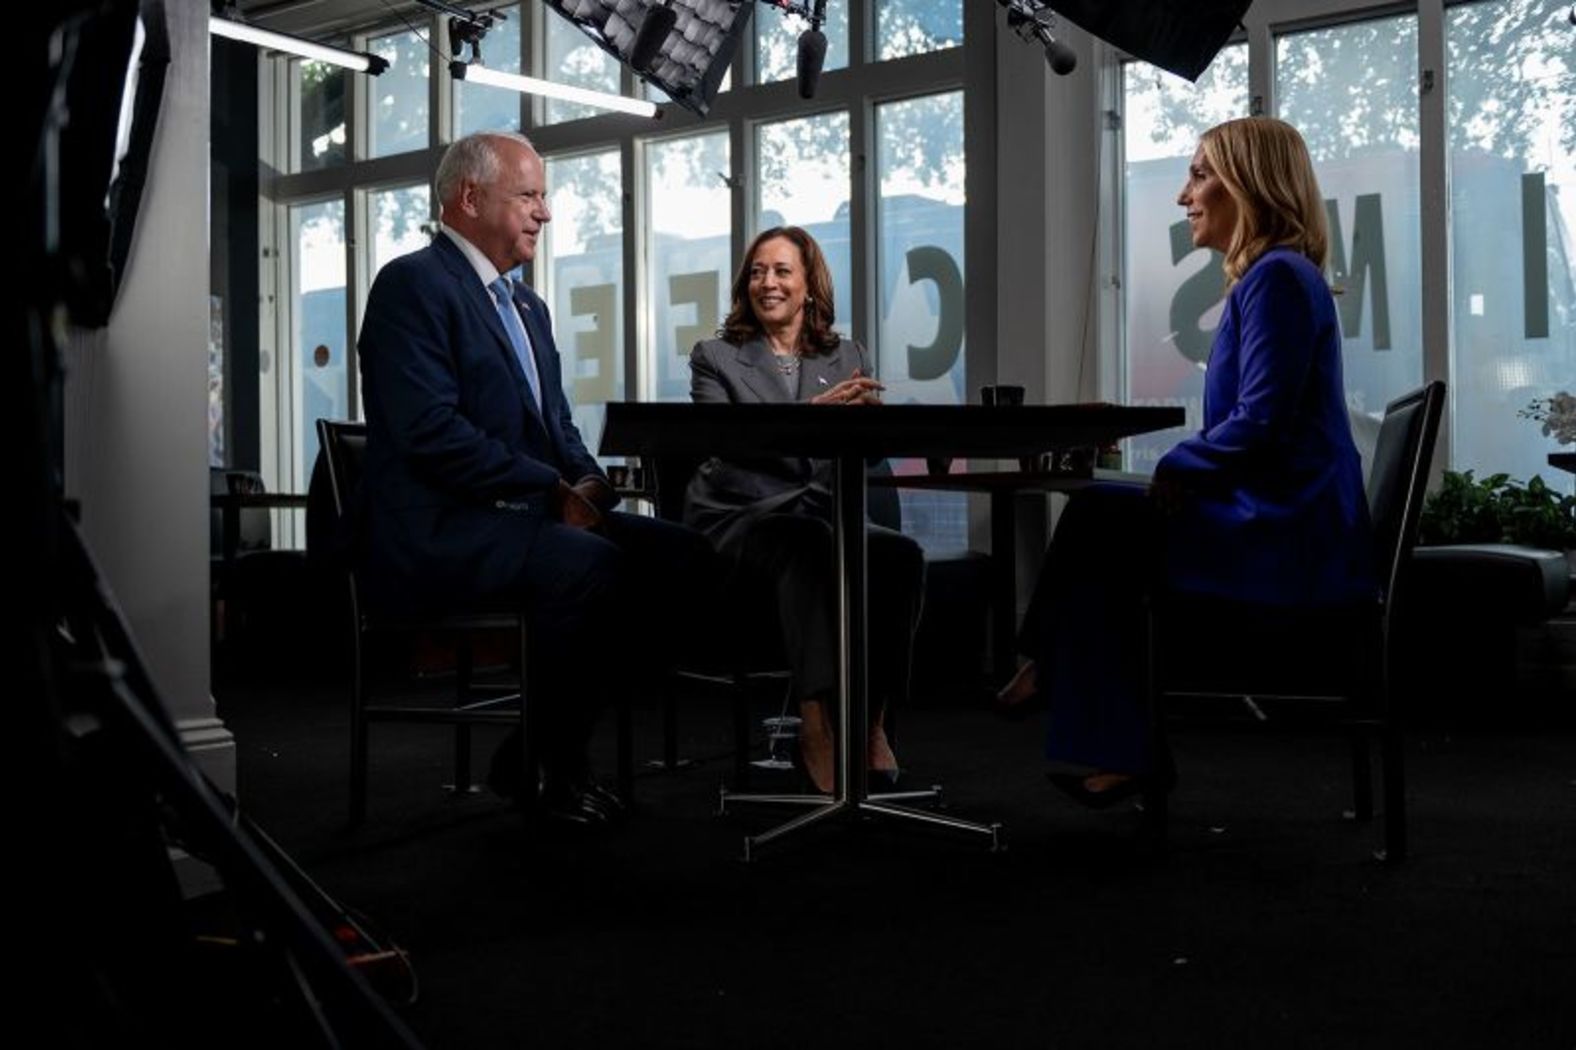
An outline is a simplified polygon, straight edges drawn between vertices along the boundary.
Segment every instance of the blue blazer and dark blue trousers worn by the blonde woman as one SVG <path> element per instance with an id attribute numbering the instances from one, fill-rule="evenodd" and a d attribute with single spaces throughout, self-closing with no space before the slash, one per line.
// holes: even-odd
<path id="1" fill-rule="evenodd" d="M 1272 249 L 1231 289 L 1204 378 L 1204 429 L 1155 478 L 1185 490 L 1180 508 L 1157 512 L 1139 486 L 1094 486 L 1069 503 L 1046 552 L 1020 648 L 1050 691 L 1056 763 L 1147 769 L 1143 599 L 1157 582 L 1264 605 L 1376 593 L 1340 320 L 1307 257 Z M 1229 650 L 1229 637 L 1218 642 Z"/>

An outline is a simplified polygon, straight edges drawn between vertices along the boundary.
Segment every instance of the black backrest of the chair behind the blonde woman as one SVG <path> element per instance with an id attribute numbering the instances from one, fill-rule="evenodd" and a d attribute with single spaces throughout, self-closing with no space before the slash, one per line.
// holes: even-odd
<path id="1" fill-rule="evenodd" d="M 1445 408 L 1445 385 L 1434 380 L 1396 397 L 1384 410 L 1368 473 L 1368 517 L 1374 528 L 1374 569 L 1392 605 L 1401 571 L 1417 544 L 1428 465 Z"/>

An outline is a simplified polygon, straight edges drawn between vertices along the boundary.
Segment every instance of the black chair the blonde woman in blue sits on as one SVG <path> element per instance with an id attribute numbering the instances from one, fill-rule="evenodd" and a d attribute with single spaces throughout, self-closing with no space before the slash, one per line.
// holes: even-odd
<path id="1" fill-rule="evenodd" d="M 1371 820 L 1368 739 L 1377 736 L 1384 790 L 1377 856 L 1387 861 L 1401 861 L 1407 848 L 1401 711 L 1393 691 L 1396 618 L 1409 598 L 1407 566 L 1444 402 L 1445 385 L 1433 382 L 1385 407 L 1368 476 L 1381 583 L 1376 602 L 1283 610 L 1158 594 L 1147 618 L 1152 754 L 1158 761 L 1168 755 L 1165 724 L 1184 698 L 1228 700 L 1236 716 L 1228 720 L 1239 724 L 1335 727 L 1352 741 L 1352 815 Z M 1210 624 L 1212 637 L 1232 639 L 1231 661 L 1193 643 L 1190 626 L 1199 623 Z M 1160 843 L 1168 787 L 1158 777 L 1144 793 L 1146 821 Z"/>

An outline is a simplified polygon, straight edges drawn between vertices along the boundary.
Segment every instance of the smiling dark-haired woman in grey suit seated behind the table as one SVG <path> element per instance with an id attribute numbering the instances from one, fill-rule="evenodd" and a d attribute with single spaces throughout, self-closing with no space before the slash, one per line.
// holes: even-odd
<path id="1" fill-rule="evenodd" d="M 870 355 L 832 331 L 832 276 L 815 238 L 794 225 L 763 232 L 733 281 L 717 339 L 690 353 L 697 402 L 879 405 Z M 854 408 L 857 410 L 857 408 Z M 799 702 L 799 755 L 821 791 L 832 790 L 827 705 L 837 687 L 837 588 L 832 552 L 832 462 L 733 460 L 714 456 L 690 479 L 684 520 L 706 533 L 750 590 L 774 599 Z M 867 525 L 870 550 L 870 739 L 879 784 L 897 782 L 886 705 L 906 694 L 925 585 L 924 552 L 908 536 Z"/>

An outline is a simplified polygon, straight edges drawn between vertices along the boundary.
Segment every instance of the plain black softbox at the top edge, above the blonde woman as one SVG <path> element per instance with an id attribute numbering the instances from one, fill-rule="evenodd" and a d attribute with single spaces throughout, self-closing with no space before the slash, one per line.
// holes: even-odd
<path id="1" fill-rule="evenodd" d="M 1048 0 L 1048 6 L 1135 58 L 1198 80 L 1253 0 Z"/>

